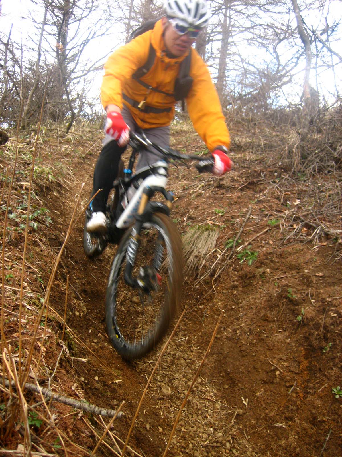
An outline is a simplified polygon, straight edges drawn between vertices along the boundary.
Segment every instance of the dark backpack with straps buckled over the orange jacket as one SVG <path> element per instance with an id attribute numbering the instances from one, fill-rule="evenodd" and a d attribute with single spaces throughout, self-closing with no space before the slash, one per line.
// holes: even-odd
<path id="1" fill-rule="evenodd" d="M 138 37 L 139 35 L 142 35 L 145 32 L 148 32 L 149 30 L 152 30 L 155 26 L 155 23 L 157 21 L 159 21 L 160 19 L 161 19 L 161 17 L 159 17 L 157 19 L 151 19 L 150 21 L 146 21 L 143 24 L 141 24 L 140 27 L 135 29 L 130 34 L 129 41 L 133 40 L 135 37 Z M 163 90 L 159 90 L 155 87 L 150 87 L 144 81 L 140 80 L 140 78 L 142 76 L 144 76 L 146 73 L 148 73 L 150 71 L 150 69 L 152 68 L 152 66 L 154 64 L 154 61 L 155 61 L 155 48 L 153 48 L 152 44 L 150 43 L 149 55 L 147 57 L 145 64 L 135 71 L 135 73 L 132 75 L 132 78 L 135 79 L 139 84 L 146 87 L 146 89 L 154 90 L 155 92 L 159 92 L 166 96 L 174 97 L 174 99 L 176 101 L 181 100 L 182 109 L 184 111 L 184 98 L 187 97 L 187 94 L 189 93 L 189 90 L 191 89 L 192 81 L 193 81 L 192 77 L 189 76 L 190 64 L 191 64 L 191 49 L 190 49 L 190 52 L 187 55 L 187 57 L 182 60 L 180 66 L 179 66 L 178 77 L 175 80 L 175 87 L 174 87 L 172 94 L 169 92 L 164 92 Z M 140 102 L 139 105 L 141 105 L 141 104 L 143 104 L 143 102 Z M 145 105 L 143 104 L 143 106 L 145 106 Z"/>

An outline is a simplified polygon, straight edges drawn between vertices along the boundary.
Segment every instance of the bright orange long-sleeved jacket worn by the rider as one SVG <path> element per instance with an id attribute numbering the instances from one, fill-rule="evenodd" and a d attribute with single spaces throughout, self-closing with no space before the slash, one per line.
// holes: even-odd
<path id="1" fill-rule="evenodd" d="M 153 30 L 143 33 L 112 53 L 104 65 L 104 77 L 101 86 L 101 101 L 106 108 L 114 104 L 122 108 L 128 106 L 140 128 L 154 128 L 169 125 L 175 112 L 173 97 L 150 91 L 131 78 L 135 71 L 147 61 L 150 43 L 155 48 L 155 62 L 150 71 L 141 80 L 164 92 L 173 93 L 180 62 L 184 56 L 168 58 L 162 36 L 161 21 L 157 21 Z M 215 146 L 229 148 L 230 138 L 223 116 L 218 94 L 212 83 L 209 71 L 195 49 L 191 49 L 191 67 L 189 75 L 193 79 L 192 88 L 186 101 L 187 110 L 197 133 L 212 151 Z M 135 101 L 145 99 L 146 104 L 155 108 L 171 108 L 170 112 L 144 113 L 123 100 L 122 93 Z"/>

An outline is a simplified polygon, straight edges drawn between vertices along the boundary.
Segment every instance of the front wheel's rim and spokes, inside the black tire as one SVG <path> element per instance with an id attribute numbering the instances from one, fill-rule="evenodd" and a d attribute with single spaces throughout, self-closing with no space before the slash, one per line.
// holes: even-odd
<path id="1" fill-rule="evenodd" d="M 149 293 L 129 287 L 124 282 L 129 239 L 128 237 L 125 240 L 124 249 L 117 255 L 112 269 L 112 274 L 114 270 L 119 271 L 119 274 L 116 278 L 111 276 L 109 280 L 110 313 L 114 342 L 124 347 L 136 348 L 153 345 L 170 321 L 173 260 L 165 230 L 155 223 L 145 224 L 133 276 L 139 276 L 141 267 L 150 266 L 161 276 L 161 285 L 156 287 L 158 290 L 152 289 Z"/>

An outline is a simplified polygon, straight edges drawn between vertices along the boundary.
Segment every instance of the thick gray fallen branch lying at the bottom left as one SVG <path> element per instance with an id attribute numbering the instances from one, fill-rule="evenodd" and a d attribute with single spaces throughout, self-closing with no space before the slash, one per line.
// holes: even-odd
<path id="1" fill-rule="evenodd" d="M 12 381 L 8 381 L 8 379 L 5 379 L 5 386 L 9 387 L 16 387 L 16 383 Z M 46 388 L 39 388 L 35 384 L 31 383 L 26 383 L 25 388 L 27 390 L 30 390 L 31 392 L 36 392 L 36 393 L 42 393 L 44 397 L 47 399 L 52 399 L 52 401 L 57 401 L 58 403 L 64 403 L 68 404 L 69 406 L 72 406 L 73 408 L 76 409 L 82 409 L 83 411 L 86 411 L 87 413 L 93 413 L 93 414 L 100 414 L 101 416 L 107 416 L 107 417 L 114 417 L 116 414 L 116 410 L 114 409 L 106 409 L 106 408 L 100 408 L 99 406 L 95 406 L 93 404 L 85 403 L 85 401 L 78 401 L 75 399 L 72 399 L 71 397 L 67 397 L 66 395 L 61 395 L 60 393 L 54 393 L 49 389 Z M 117 417 L 121 417 L 122 413 L 119 413 Z"/>

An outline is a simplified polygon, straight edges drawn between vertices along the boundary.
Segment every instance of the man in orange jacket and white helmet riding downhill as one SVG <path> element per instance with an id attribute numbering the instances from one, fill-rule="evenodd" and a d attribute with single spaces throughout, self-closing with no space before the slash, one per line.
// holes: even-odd
<path id="1" fill-rule="evenodd" d="M 147 138 L 168 148 L 170 123 L 174 116 L 175 82 L 181 61 L 191 53 L 189 76 L 191 88 L 186 95 L 187 110 L 197 133 L 212 151 L 214 175 L 223 175 L 232 165 L 227 152 L 230 137 L 218 94 L 209 71 L 192 44 L 207 26 L 211 13 L 207 0 L 166 0 L 165 15 L 145 32 L 112 53 L 104 65 L 101 101 L 107 112 L 103 148 L 95 165 L 93 194 L 102 189 L 91 203 L 92 217 L 87 231 L 105 233 L 105 206 L 118 174 L 119 159 L 126 149 L 129 131 L 140 128 Z M 150 46 L 155 60 L 139 80 L 137 69 L 144 66 Z M 139 155 L 136 169 L 160 159 L 155 151 Z"/>

